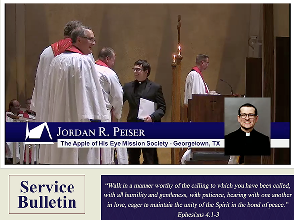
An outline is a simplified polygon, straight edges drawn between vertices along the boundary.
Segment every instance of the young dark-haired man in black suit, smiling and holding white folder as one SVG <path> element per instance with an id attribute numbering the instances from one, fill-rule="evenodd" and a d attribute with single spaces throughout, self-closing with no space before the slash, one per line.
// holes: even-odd
<path id="1" fill-rule="evenodd" d="M 123 86 L 123 102 L 129 103 L 129 113 L 127 122 L 161 122 L 165 115 L 166 104 L 162 93 L 161 85 L 148 79 L 151 73 L 151 66 L 146 60 L 139 59 L 134 67 L 135 80 Z M 148 115 L 145 120 L 138 119 L 140 98 L 144 98 L 157 103 L 157 110 Z M 143 154 L 143 164 L 158 164 L 156 148 L 128 148 L 129 164 L 140 164 L 141 149 Z"/>

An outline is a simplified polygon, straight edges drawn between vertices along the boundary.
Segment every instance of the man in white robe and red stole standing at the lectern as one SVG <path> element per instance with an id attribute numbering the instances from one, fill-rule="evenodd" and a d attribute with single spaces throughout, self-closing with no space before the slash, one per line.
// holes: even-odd
<path id="1" fill-rule="evenodd" d="M 184 104 L 188 104 L 188 99 L 192 99 L 192 94 L 217 94 L 215 91 L 209 91 L 202 75 L 208 65 L 208 55 L 198 54 L 196 56 L 196 66 L 191 69 L 186 78 Z"/>

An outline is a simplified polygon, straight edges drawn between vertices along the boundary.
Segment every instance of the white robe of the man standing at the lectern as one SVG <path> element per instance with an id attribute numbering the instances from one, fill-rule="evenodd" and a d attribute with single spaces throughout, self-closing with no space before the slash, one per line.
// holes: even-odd
<path id="1" fill-rule="evenodd" d="M 196 70 L 190 71 L 185 82 L 184 104 L 188 104 L 188 99 L 192 99 L 192 94 L 207 94 L 208 86 Z"/>

